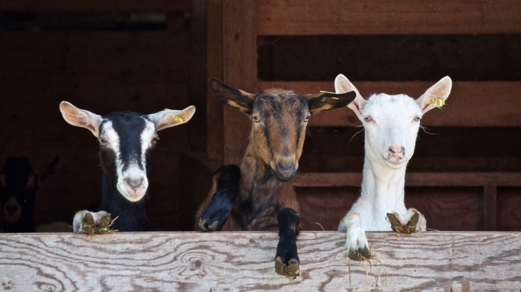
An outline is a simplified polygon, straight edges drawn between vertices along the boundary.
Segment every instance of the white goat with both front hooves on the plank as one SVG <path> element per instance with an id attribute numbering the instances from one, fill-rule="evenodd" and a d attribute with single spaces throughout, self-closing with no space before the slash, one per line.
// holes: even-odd
<path id="1" fill-rule="evenodd" d="M 365 159 L 362 192 L 348 214 L 340 221 L 339 231 L 346 231 L 346 247 L 353 260 L 369 256 L 365 231 L 391 231 L 387 213 L 394 213 L 406 225 L 417 210 L 406 209 L 404 191 L 406 166 L 414 153 L 420 120 L 443 105 L 449 97 L 452 80 L 446 76 L 430 87 L 417 100 L 405 94 L 389 96 L 385 93 L 364 100 L 355 86 L 340 74 L 335 79 L 337 93 L 355 91 L 352 109 L 365 131 Z M 418 212 L 419 213 L 419 212 Z M 419 213 L 417 231 L 425 231 L 427 221 Z"/>

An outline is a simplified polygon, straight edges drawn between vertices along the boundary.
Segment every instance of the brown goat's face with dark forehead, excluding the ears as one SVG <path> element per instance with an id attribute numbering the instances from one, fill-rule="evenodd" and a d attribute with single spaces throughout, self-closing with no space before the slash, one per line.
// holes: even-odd
<path id="1" fill-rule="evenodd" d="M 255 96 L 251 115 L 254 150 L 281 181 L 296 174 L 310 115 L 307 100 L 293 91 L 268 89 Z"/>

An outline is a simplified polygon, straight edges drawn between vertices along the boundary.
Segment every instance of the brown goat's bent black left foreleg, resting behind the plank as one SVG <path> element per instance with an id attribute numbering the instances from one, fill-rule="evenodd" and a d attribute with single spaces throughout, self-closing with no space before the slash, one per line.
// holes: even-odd
<path id="1" fill-rule="evenodd" d="M 206 199 L 198 213 L 198 226 L 201 231 L 219 231 L 230 216 L 237 198 L 237 183 L 241 176 L 239 166 L 221 166 L 214 174 L 214 194 Z M 206 208 L 203 208 L 206 205 Z M 202 213 L 202 214 L 201 214 Z"/>

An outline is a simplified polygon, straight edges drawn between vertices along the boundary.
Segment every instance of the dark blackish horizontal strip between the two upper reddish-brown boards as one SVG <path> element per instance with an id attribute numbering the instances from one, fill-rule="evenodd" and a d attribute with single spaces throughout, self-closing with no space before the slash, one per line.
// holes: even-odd
<path id="1" fill-rule="evenodd" d="M 259 36 L 258 79 L 519 81 L 520 48 L 521 34 Z"/>

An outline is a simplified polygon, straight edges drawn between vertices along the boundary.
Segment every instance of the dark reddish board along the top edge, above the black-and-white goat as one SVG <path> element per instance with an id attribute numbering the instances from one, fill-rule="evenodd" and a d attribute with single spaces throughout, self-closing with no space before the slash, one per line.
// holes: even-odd
<path id="1" fill-rule="evenodd" d="M 190 11 L 190 0 L 4 0 L 4 12 L 184 12 Z"/>

